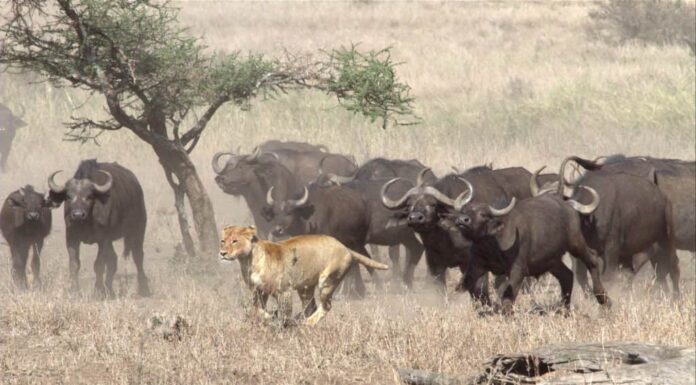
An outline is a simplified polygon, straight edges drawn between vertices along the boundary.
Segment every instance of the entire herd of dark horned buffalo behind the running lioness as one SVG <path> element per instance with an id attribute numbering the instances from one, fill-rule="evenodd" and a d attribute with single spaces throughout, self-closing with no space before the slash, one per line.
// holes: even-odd
<path id="1" fill-rule="evenodd" d="M 23 123 L 13 119 L 16 126 Z M 657 282 L 667 290 L 669 276 L 678 296 L 676 250 L 696 250 L 694 161 L 570 156 L 558 174 L 485 165 L 438 177 L 415 159 L 374 158 L 358 165 L 326 146 L 272 140 L 249 154 L 219 152 L 212 168 L 222 191 L 244 198 L 260 237 L 326 234 L 368 256 L 368 246 L 372 254 L 376 246 L 386 246 L 391 286 L 403 282 L 408 289 L 425 253 L 429 275 L 443 294 L 447 269 L 458 268 L 462 279 L 456 290 L 468 291 L 484 305 L 492 304 L 490 272 L 504 314 L 511 312 L 526 277 L 553 275 L 566 308 L 574 278 L 608 305 L 602 281 L 620 271 L 635 275 L 648 262 Z M 96 244 L 95 292 L 114 296 L 112 243 L 123 239 L 123 254 L 132 255 L 137 269 L 138 293 L 148 295 L 147 215 L 136 176 L 117 163 L 96 160 L 83 161 L 63 184 L 55 181 L 59 172 L 48 177 L 47 194 L 22 187 L 0 212 L 15 285 L 27 286 L 30 249 L 34 282 L 40 284 L 39 254 L 51 229 L 50 209 L 63 204 L 72 288 L 78 289 L 80 244 Z M 574 257 L 575 271 L 563 263 L 566 253 Z M 380 277 L 369 273 L 379 291 Z M 364 296 L 357 266 L 350 278 L 346 293 Z"/>

